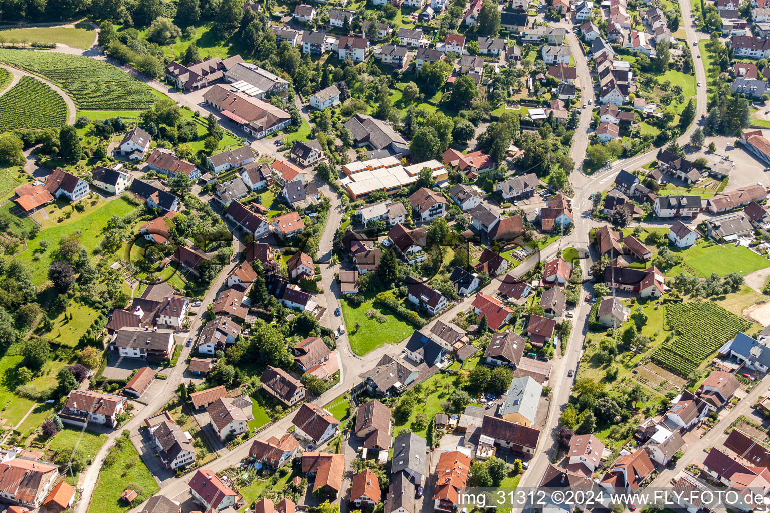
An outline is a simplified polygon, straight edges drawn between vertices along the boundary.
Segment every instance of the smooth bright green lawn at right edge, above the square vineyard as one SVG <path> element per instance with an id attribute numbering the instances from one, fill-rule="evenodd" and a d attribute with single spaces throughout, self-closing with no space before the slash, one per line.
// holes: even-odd
<path id="1" fill-rule="evenodd" d="M 671 248 L 676 252 L 677 248 Z M 718 275 L 727 275 L 733 271 L 741 275 L 770 266 L 770 261 L 752 252 L 749 248 L 734 245 L 717 245 L 710 242 L 701 242 L 698 245 L 679 252 L 679 256 L 685 258 L 685 265 L 692 268 L 698 276 L 708 276 L 712 272 Z M 691 274 L 691 271 L 682 265 L 671 268 L 666 275 L 675 276 L 680 272 Z"/>

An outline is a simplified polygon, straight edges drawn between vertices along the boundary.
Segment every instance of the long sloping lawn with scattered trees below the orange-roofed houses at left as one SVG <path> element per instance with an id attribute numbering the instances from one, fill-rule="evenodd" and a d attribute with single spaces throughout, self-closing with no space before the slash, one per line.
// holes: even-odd
<path id="1" fill-rule="evenodd" d="M 59 244 L 59 240 L 64 235 L 80 232 L 82 234 L 82 244 L 85 245 L 89 252 L 92 252 L 102 240 L 102 228 L 104 228 L 109 219 L 113 215 L 122 218 L 124 215 L 132 212 L 134 208 L 136 208 L 134 205 L 121 198 L 112 202 L 105 202 L 101 208 L 82 218 L 76 218 L 75 215 L 72 215 L 72 218 L 75 218 L 74 221 L 68 219 L 59 224 L 52 225 L 50 228 L 42 229 L 35 239 L 27 242 L 26 251 L 19 254 L 17 258 L 25 262 L 30 268 L 32 281 L 37 285 L 42 285 L 48 280 L 48 268 L 53 261 L 55 245 Z M 55 223 L 55 220 L 52 220 L 52 222 Z M 39 252 L 43 249 L 40 247 L 41 241 L 48 241 L 51 245 L 47 251 L 42 253 Z"/>

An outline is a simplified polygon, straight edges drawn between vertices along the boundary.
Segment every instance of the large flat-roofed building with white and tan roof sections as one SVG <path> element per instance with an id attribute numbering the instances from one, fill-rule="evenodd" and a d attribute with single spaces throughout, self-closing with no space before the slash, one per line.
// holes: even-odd
<path id="1" fill-rule="evenodd" d="M 397 158 L 385 157 L 344 165 L 342 170 L 346 176 L 342 182 L 353 201 L 368 198 L 375 191 L 384 191 L 392 196 L 402 187 L 417 182 L 423 168 L 429 168 L 433 172 L 436 182 L 447 179 L 447 169 L 437 160 L 403 166 Z"/>

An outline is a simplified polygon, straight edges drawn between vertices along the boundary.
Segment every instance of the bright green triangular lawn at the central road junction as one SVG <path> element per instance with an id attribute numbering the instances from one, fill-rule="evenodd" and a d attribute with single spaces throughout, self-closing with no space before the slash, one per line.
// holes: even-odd
<path id="1" fill-rule="evenodd" d="M 376 310 L 385 315 L 387 322 L 380 324 L 376 319 L 368 318 L 369 310 Z M 342 301 L 342 311 L 350 338 L 350 348 L 359 356 L 366 355 L 386 344 L 396 344 L 414 331 L 413 325 L 393 315 L 387 308 L 375 306 L 373 298 L 367 299 L 360 306 L 349 305 L 347 301 Z"/>

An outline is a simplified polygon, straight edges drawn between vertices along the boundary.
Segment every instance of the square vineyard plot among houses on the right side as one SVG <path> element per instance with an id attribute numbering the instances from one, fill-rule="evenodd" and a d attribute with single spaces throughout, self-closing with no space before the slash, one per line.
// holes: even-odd
<path id="1" fill-rule="evenodd" d="M 669 303 L 666 324 L 675 337 L 652 354 L 652 361 L 687 377 L 706 358 L 752 323 L 708 301 Z"/>

